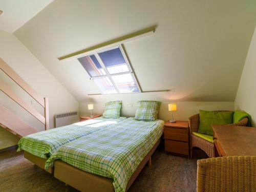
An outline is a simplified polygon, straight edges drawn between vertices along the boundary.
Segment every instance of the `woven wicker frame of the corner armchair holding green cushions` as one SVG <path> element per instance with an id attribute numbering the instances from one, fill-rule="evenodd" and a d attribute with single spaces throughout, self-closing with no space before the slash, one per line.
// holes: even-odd
<path id="1" fill-rule="evenodd" d="M 226 112 L 226 111 L 217 111 L 217 112 Z M 199 128 L 199 114 L 193 115 L 188 118 L 189 122 L 189 135 L 190 135 L 190 158 L 193 156 L 193 148 L 198 147 L 203 150 L 208 157 L 214 157 L 214 143 L 206 141 L 200 137 L 197 137 L 192 134 L 192 132 L 197 132 Z M 245 117 L 241 121 L 237 123 L 232 123 L 229 125 L 234 126 L 246 126 L 248 122 L 248 118 Z"/>

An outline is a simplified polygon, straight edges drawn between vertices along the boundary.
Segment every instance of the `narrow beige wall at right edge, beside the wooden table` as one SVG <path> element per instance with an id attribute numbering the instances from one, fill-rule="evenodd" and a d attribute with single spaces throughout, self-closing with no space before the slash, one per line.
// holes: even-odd
<path id="1" fill-rule="evenodd" d="M 252 117 L 252 126 L 256 126 L 256 28 L 251 39 L 243 73 L 239 83 L 235 107 L 244 110 Z"/>

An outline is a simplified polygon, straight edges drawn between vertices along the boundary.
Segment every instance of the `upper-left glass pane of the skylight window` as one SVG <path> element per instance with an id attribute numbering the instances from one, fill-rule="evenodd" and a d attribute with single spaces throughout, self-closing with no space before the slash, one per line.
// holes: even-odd
<path id="1" fill-rule="evenodd" d="M 99 64 L 99 61 L 96 59 L 95 55 L 80 57 L 78 60 L 91 77 L 97 77 L 106 74 Z"/>

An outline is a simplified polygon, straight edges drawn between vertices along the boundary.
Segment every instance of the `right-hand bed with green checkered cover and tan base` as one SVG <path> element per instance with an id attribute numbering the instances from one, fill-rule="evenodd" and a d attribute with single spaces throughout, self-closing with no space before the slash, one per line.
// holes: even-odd
<path id="1" fill-rule="evenodd" d="M 159 144 L 162 120 L 127 118 L 62 145 L 47 160 L 54 176 L 81 191 L 126 191 Z"/>

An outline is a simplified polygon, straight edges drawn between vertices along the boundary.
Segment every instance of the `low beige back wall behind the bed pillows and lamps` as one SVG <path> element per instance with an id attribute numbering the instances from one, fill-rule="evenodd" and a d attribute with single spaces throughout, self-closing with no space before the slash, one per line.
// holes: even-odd
<path id="1" fill-rule="evenodd" d="M 95 95 L 91 96 L 89 102 L 79 103 L 80 115 L 89 115 L 87 104 L 94 103 L 94 114 L 102 114 L 104 111 L 105 102 L 122 100 L 121 115 L 127 117 L 134 117 L 137 108 L 137 101 L 139 100 L 158 100 L 162 101 L 160 107 L 159 118 L 168 120 L 171 118 L 172 113 L 168 112 L 168 103 L 172 100 L 164 98 L 167 97 L 166 93 L 132 93 L 120 95 Z M 187 120 L 189 116 L 197 114 L 199 109 L 202 110 L 234 110 L 234 102 L 188 102 L 179 101 L 177 103 L 177 112 L 175 118 L 178 120 Z"/>

